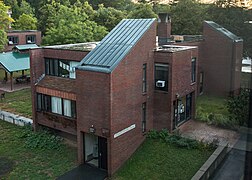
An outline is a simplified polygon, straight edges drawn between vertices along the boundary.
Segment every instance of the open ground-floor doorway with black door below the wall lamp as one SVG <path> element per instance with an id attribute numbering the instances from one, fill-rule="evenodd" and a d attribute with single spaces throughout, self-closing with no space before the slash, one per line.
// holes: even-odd
<path id="1" fill-rule="evenodd" d="M 107 139 L 94 134 L 83 133 L 85 163 L 107 170 Z"/>

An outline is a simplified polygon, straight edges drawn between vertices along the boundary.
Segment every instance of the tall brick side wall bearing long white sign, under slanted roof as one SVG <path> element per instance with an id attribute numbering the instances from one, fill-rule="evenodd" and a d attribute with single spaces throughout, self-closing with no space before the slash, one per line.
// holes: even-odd
<path id="1" fill-rule="evenodd" d="M 111 162 L 114 173 L 145 139 L 142 133 L 142 103 L 147 104 L 147 131 L 153 128 L 153 49 L 156 24 L 144 34 L 111 74 Z M 147 64 L 147 92 L 142 93 L 143 64 Z M 135 128 L 113 138 L 121 130 Z"/>

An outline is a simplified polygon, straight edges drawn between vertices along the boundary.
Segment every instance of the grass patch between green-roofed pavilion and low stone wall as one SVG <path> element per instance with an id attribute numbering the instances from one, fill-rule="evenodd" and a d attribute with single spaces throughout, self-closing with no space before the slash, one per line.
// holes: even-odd
<path id="1" fill-rule="evenodd" d="M 31 89 L 5 93 L 5 99 L 0 101 L 0 109 L 31 118 Z"/>

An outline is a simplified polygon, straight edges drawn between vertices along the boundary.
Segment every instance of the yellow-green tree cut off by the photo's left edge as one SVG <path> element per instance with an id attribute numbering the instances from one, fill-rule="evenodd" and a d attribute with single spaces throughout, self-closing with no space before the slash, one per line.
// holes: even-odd
<path id="1" fill-rule="evenodd" d="M 0 1 L 0 51 L 4 49 L 7 43 L 6 30 L 9 28 L 10 23 L 13 22 L 13 19 L 7 14 L 8 10 L 9 7 L 5 6 L 3 1 Z"/>

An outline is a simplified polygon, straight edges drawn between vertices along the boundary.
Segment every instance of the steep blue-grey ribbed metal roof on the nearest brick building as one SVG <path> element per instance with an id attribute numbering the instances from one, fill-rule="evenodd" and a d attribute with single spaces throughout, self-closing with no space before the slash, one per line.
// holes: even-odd
<path id="1" fill-rule="evenodd" d="M 110 73 L 155 19 L 122 20 L 80 63 L 78 69 Z"/>

